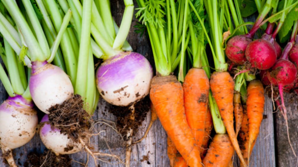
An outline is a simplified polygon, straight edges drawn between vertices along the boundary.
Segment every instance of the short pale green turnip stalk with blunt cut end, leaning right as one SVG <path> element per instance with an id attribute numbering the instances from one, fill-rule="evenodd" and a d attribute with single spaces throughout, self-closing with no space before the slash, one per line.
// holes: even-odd
<path id="1" fill-rule="evenodd" d="M 49 57 L 49 59 L 47 60 L 47 62 L 51 63 L 55 57 L 55 54 L 57 52 L 57 49 L 58 49 L 58 46 L 60 44 L 60 41 L 62 39 L 62 36 L 67 28 L 67 25 L 69 23 L 69 20 L 70 18 L 72 17 L 72 12 L 71 10 L 68 10 L 68 12 L 65 14 L 64 18 L 63 18 L 63 21 L 62 21 L 62 24 L 60 26 L 60 30 L 58 32 L 58 35 L 51 47 L 51 56 Z"/>

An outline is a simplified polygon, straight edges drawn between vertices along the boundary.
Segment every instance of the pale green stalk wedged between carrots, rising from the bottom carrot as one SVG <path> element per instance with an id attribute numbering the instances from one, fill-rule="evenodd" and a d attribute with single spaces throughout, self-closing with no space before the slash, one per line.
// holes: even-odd
<path id="1" fill-rule="evenodd" d="M 216 134 L 225 134 L 226 128 L 224 127 L 224 122 L 221 120 L 221 115 L 218 110 L 218 106 L 215 99 L 212 97 L 212 92 L 209 90 L 209 107 L 212 116 L 212 121 Z"/>

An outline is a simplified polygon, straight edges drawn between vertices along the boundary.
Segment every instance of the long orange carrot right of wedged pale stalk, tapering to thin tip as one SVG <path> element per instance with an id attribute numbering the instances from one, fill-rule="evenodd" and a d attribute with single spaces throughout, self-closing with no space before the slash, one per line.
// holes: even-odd
<path id="1" fill-rule="evenodd" d="M 233 119 L 233 94 L 234 94 L 234 81 L 228 72 L 214 72 L 210 78 L 210 88 L 212 94 L 218 105 L 222 121 L 226 127 L 229 138 L 234 146 L 235 151 L 241 161 L 245 163 L 241 154 L 237 137 L 234 131 Z"/>

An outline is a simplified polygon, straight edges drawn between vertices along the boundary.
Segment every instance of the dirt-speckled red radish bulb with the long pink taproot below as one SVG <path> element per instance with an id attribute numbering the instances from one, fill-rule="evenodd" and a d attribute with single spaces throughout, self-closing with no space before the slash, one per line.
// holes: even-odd
<path id="1" fill-rule="evenodd" d="M 273 85 L 290 85 L 297 77 L 297 68 L 289 60 L 279 59 L 268 73 L 268 78 Z"/>

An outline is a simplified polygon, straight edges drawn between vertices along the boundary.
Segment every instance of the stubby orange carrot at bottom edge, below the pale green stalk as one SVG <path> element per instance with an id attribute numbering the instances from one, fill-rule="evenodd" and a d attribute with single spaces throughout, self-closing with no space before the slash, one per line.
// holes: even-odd
<path id="1" fill-rule="evenodd" d="M 228 134 L 216 134 L 210 143 L 206 157 L 203 160 L 205 167 L 227 167 L 234 154 L 234 147 Z"/>

